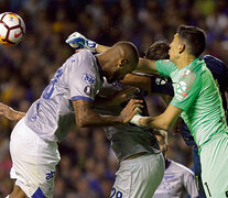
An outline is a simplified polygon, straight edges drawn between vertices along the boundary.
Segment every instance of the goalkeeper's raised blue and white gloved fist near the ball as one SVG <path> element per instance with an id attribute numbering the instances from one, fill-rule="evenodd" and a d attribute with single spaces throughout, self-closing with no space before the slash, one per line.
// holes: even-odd
<path id="1" fill-rule="evenodd" d="M 78 32 L 70 34 L 65 42 L 75 50 L 87 48 L 90 51 L 96 51 L 97 47 L 96 42 L 87 40 L 83 34 Z"/>

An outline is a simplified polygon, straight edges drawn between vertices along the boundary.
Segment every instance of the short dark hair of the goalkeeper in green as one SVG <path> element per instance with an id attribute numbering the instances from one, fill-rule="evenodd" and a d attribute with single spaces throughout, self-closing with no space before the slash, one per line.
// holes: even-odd
<path id="1" fill-rule="evenodd" d="M 206 47 L 206 34 L 197 26 L 181 25 L 177 30 L 178 37 L 186 42 L 188 53 L 198 57 Z"/>

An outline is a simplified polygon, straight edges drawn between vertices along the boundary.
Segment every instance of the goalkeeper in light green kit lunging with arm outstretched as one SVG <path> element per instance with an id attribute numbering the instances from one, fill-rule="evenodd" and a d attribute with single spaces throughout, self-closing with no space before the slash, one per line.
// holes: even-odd
<path id="1" fill-rule="evenodd" d="M 174 98 L 153 118 L 134 118 L 135 123 L 171 129 L 182 116 L 199 147 L 202 177 L 207 197 L 228 197 L 228 128 L 218 87 L 205 61 L 198 57 L 206 45 L 205 33 L 180 26 L 170 47 L 170 61 L 141 59 L 138 69 L 171 77 Z"/>

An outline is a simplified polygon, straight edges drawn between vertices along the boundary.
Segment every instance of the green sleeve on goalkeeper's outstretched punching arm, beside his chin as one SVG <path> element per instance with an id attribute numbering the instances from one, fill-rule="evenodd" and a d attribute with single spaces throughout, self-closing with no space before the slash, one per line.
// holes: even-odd
<path id="1" fill-rule="evenodd" d="M 161 76 L 170 77 L 170 74 L 177 69 L 176 65 L 170 59 L 160 59 L 155 62 L 156 70 Z"/>

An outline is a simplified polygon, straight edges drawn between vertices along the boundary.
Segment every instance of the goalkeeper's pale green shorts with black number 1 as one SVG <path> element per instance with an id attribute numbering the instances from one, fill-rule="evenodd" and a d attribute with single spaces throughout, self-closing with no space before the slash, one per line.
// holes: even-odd
<path id="1" fill-rule="evenodd" d="M 228 198 L 228 134 L 216 134 L 203 145 L 200 163 L 206 196 Z"/>

